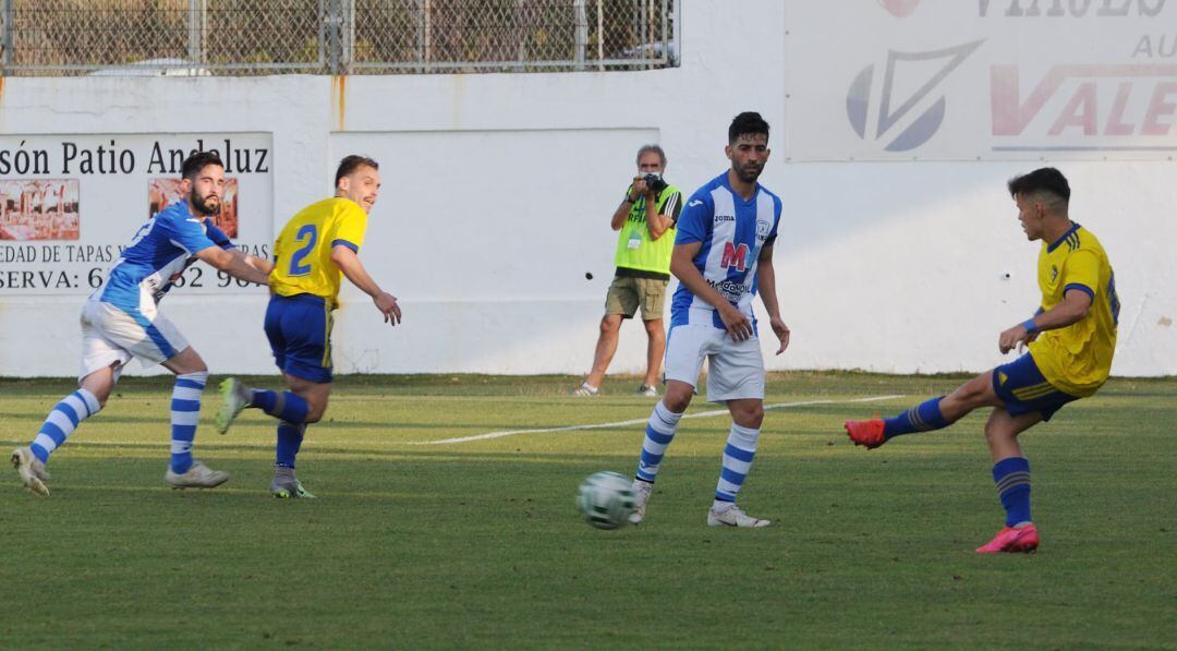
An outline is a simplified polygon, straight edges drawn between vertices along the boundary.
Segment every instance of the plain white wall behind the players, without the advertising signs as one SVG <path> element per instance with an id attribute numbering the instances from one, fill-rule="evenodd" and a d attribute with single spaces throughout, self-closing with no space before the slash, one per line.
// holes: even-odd
<path id="1" fill-rule="evenodd" d="M 830 29 L 847 7 L 882 11 L 830 6 Z M 400 297 L 405 323 L 388 328 L 346 290 L 337 371 L 573 373 L 591 361 L 612 275 L 607 221 L 637 147 L 661 142 L 669 179 L 690 192 L 725 168 L 731 118 L 757 109 L 774 129 L 762 181 L 785 201 L 776 266 L 793 328 L 792 348 L 769 366 L 907 373 L 999 363 L 997 333 L 1037 304 L 1038 244 L 1024 240 L 1004 182 L 1039 164 L 791 150 L 785 134 L 806 125 L 791 121 L 803 99 L 790 97 L 799 82 L 786 69 L 823 62 L 789 51 L 786 7 L 684 2 L 683 65 L 665 71 L 7 79 L 0 134 L 271 133 L 274 212 L 254 219 L 272 219 L 274 232 L 330 194 L 341 155 L 373 155 L 384 190 L 361 259 Z M 845 111 L 847 85 L 804 101 Z M 1153 158 L 1056 162 L 1075 188 L 1075 218 L 1116 267 L 1118 374 L 1177 373 L 1175 167 Z M 74 373 L 82 299 L 0 293 L 0 374 Z M 262 295 L 177 290 L 162 307 L 214 372 L 272 372 Z M 612 371 L 638 371 L 644 346 L 626 324 Z"/>

